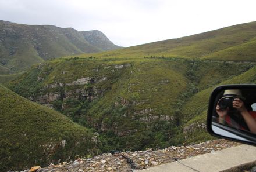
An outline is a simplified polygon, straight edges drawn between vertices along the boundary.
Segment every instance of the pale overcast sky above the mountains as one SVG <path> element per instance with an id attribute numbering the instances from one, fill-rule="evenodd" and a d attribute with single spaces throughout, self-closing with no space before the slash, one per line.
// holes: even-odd
<path id="1" fill-rule="evenodd" d="M 256 21 L 255 0 L 0 0 L 0 20 L 99 30 L 119 46 Z"/>

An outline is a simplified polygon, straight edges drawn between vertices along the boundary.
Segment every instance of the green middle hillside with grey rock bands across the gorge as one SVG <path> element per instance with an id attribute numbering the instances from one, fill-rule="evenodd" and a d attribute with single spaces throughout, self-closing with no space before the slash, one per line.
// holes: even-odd
<path id="1" fill-rule="evenodd" d="M 34 65 L 9 87 L 97 130 L 103 151 L 139 150 L 183 144 L 182 127 L 201 113 L 197 108 L 205 109 L 193 100 L 189 115 L 184 112 L 190 97 L 251 67 L 183 58 L 66 58 Z"/>

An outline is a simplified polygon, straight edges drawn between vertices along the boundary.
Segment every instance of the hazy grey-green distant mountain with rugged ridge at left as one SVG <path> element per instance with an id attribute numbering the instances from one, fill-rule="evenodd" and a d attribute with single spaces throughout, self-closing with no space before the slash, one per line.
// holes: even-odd
<path id="1" fill-rule="evenodd" d="M 12 72 L 22 71 L 49 58 L 120 48 L 99 31 L 88 34 L 73 28 L 16 24 L 2 20 L 0 30 L 0 64 Z"/>

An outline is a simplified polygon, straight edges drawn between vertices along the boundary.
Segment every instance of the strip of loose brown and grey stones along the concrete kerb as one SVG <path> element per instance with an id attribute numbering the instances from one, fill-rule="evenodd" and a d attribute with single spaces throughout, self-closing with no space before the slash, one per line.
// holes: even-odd
<path id="1" fill-rule="evenodd" d="M 222 139 L 182 147 L 172 146 L 157 150 L 148 149 L 145 151 L 127 151 L 113 154 L 103 153 L 102 155 L 93 158 L 77 159 L 74 162 L 63 162 L 57 165 L 51 164 L 44 169 L 40 169 L 38 166 L 38 169 L 35 169 L 38 170 L 36 172 L 133 171 L 134 169 L 145 169 L 152 166 L 158 166 L 159 164 L 175 162 L 177 160 L 202 155 L 204 153 L 215 153 L 215 151 L 234 147 L 236 145 L 240 144 Z M 33 171 L 31 170 L 31 172 Z"/>

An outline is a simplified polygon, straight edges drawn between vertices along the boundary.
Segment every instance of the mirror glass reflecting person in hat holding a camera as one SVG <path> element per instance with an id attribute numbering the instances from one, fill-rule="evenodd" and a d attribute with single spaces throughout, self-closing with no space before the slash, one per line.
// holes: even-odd
<path id="1" fill-rule="evenodd" d="M 256 89 L 226 89 L 212 109 L 212 130 L 242 141 L 256 140 Z"/>

